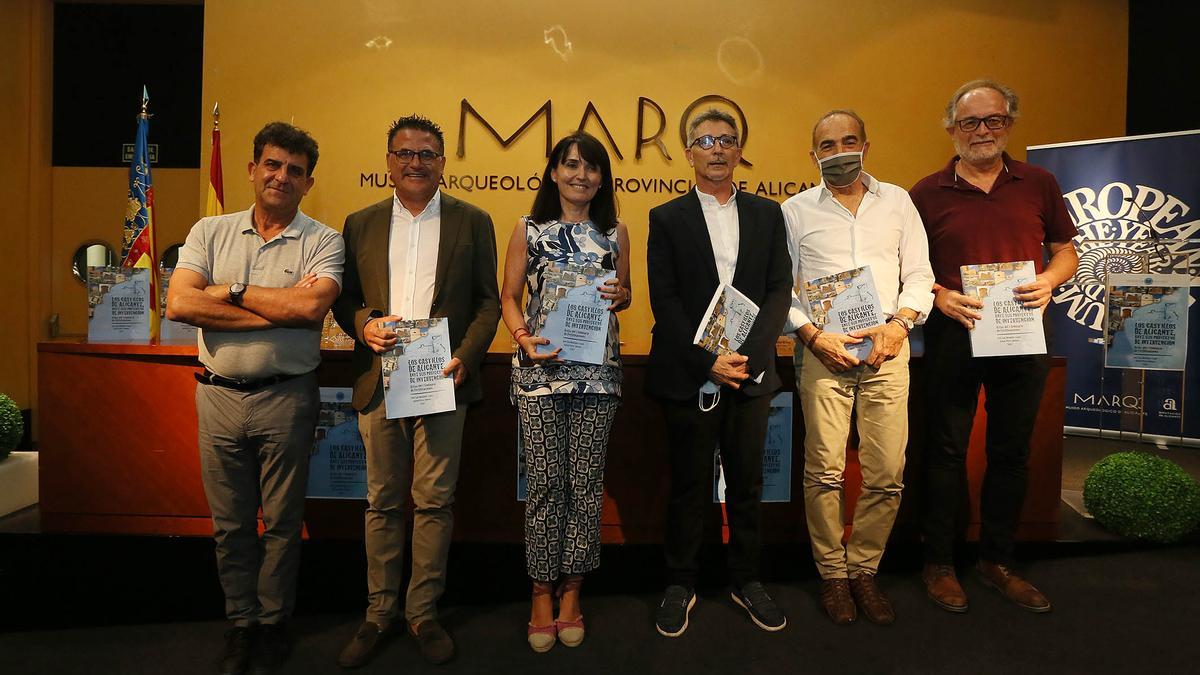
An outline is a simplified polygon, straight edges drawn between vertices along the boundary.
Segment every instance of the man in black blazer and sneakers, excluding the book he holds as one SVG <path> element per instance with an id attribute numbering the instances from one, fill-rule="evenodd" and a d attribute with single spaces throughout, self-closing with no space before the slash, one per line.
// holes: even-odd
<path id="1" fill-rule="evenodd" d="M 720 448 L 731 596 L 760 628 L 779 631 L 787 619 L 758 581 L 758 526 L 767 416 L 780 387 L 775 339 L 791 304 L 784 215 L 778 203 L 737 191 L 733 169 L 742 147 L 731 115 L 709 109 L 688 130 L 696 190 L 650 210 L 647 246 L 654 329 L 646 390 L 662 404 L 671 458 L 670 585 L 655 623 L 671 638 L 688 629 L 703 514 L 712 502 L 713 456 Z M 692 344 L 721 283 L 758 305 L 745 341 L 726 356 Z M 719 390 L 702 394 L 706 383 Z"/>

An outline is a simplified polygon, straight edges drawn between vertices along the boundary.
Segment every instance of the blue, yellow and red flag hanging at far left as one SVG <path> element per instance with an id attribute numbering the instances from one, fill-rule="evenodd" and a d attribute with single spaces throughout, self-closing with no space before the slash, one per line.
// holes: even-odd
<path id="1" fill-rule="evenodd" d="M 138 115 L 138 138 L 130 163 L 130 198 L 125 204 L 125 238 L 121 243 L 121 267 L 150 270 L 150 297 L 158 298 L 158 255 L 154 243 L 154 184 L 150 180 L 150 94 L 142 88 L 142 113 Z M 158 303 L 151 303 L 150 338 L 158 336 Z"/>

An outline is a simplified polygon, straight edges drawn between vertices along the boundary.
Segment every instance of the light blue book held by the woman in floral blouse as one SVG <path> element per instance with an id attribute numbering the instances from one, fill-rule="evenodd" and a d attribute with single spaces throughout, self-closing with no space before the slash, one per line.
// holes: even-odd
<path id="1" fill-rule="evenodd" d="M 612 312 L 599 286 L 614 276 L 600 265 L 547 265 L 533 334 L 550 344 L 538 345 L 538 353 L 562 350 L 563 360 L 602 364 Z"/>

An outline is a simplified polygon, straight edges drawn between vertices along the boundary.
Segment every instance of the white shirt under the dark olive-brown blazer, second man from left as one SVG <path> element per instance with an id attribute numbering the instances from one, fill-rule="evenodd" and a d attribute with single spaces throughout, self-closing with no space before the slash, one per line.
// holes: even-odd
<path id="1" fill-rule="evenodd" d="M 392 196 L 388 238 L 389 309 L 403 319 L 430 318 L 442 239 L 442 191 L 425 210 L 412 214 Z"/>

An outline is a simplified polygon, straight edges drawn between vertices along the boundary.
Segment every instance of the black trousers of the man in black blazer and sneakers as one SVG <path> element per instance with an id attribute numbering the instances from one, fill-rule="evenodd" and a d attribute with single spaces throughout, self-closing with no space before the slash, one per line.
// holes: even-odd
<path id="1" fill-rule="evenodd" d="M 725 468 L 730 580 L 738 587 L 757 580 L 762 449 L 770 396 L 746 396 L 726 388 L 709 412 L 701 412 L 696 399 L 662 401 L 662 411 L 671 454 L 665 538 L 670 583 L 689 589 L 696 585 L 704 514 L 713 508 L 713 459 L 718 447 Z"/>

